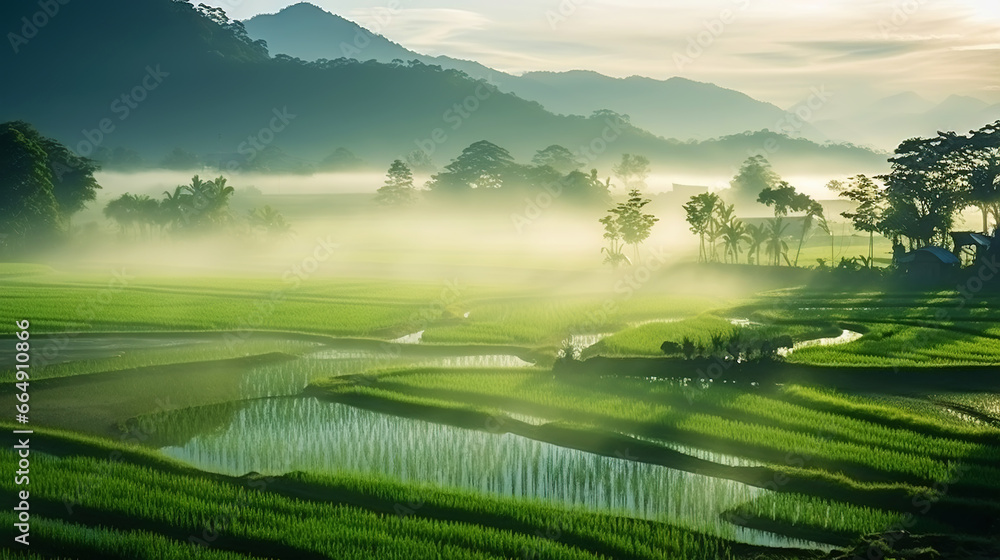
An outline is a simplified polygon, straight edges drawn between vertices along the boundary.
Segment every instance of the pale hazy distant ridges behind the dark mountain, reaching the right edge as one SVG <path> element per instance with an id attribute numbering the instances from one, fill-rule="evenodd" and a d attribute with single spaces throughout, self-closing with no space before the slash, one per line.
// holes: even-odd
<path id="1" fill-rule="evenodd" d="M 965 132 L 1000 119 L 1000 104 L 989 106 L 975 98 L 953 96 L 935 105 L 914 92 L 903 92 L 850 114 L 820 115 L 815 121 L 789 126 L 786 117 L 794 107 L 786 110 L 735 90 L 685 78 L 612 78 L 587 70 L 513 76 L 475 61 L 423 55 L 308 2 L 255 16 L 244 25 L 252 37 L 266 40 L 272 53 L 303 60 L 419 60 L 487 79 L 502 91 L 541 103 L 557 114 L 590 115 L 599 109 L 628 114 L 637 126 L 664 138 L 707 140 L 769 129 L 820 143 L 849 141 L 891 150 L 907 137 L 933 136 L 945 129 Z M 359 48 L 358 42 L 364 46 Z"/>

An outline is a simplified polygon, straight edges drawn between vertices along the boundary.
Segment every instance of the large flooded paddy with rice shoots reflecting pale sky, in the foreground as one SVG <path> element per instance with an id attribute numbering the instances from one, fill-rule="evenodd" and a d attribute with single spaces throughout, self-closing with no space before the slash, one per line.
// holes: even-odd
<path id="1" fill-rule="evenodd" d="M 192 431 L 197 415 L 159 430 Z M 512 434 L 456 428 L 314 398 L 258 400 L 228 424 L 162 451 L 230 475 L 256 471 L 351 472 L 495 496 L 537 498 L 590 510 L 670 521 L 769 546 L 810 546 L 738 528 L 719 514 L 766 490 Z"/>

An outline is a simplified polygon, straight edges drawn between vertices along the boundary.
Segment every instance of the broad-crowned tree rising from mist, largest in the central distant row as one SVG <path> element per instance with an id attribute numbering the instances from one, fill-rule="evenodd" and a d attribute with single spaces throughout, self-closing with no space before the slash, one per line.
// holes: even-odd
<path id="1" fill-rule="evenodd" d="M 430 189 L 441 193 L 498 189 L 511 177 L 516 164 L 510 152 L 486 140 L 462 150 L 461 155 L 431 176 Z"/>

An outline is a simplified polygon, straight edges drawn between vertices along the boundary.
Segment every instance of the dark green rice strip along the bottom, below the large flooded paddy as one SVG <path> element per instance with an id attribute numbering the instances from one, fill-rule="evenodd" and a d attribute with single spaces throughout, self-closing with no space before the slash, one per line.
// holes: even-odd
<path id="1" fill-rule="evenodd" d="M 42 431 L 73 445 L 84 440 Z M 254 553 L 281 557 L 325 555 L 368 558 L 378 549 L 388 558 L 419 557 L 509 558 L 527 552 L 558 559 L 629 556 L 642 559 L 682 556 L 733 558 L 726 541 L 701 533 L 629 518 L 554 508 L 540 502 L 490 498 L 469 493 L 404 485 L 371 476 L 323 476 L 298 473 L 287 481 L 306 485 L 315 495 L 363 497 L 366 506 L 345 506 L 319 500 L 287 498 L 281 480 L 260 479 L 245 487 L 194 472 L 167 471 L 135 464 L 135 452 L 120 448 L 125 460 L 40 456 L 45 477 L 32 484 L 35 503 L 61 504 L 75 497 L 80 511 L 100 512 L 100 527 L 72 525 L 60 519 L 33 516 L 33 537 L 53 547 L 110 558 L 246 558 Z M 77 447 L 79 448 L 79 447 Z M 5 460 L 12 451 L 2 451 Z M 140 454 L 141 455 L 141 454 Z M 32 481 L 35 482 L 34 480 Z M 85 491 L 80 491 L 81 484 Z M 5 491 L 12 481 L 0 482 Z M 254 489 L 257 488 L 257 489 Z M 278 490 L 278 491 L 274 491 Z M 393 505 L 395 504 L 395 505 Z M 400 504 L 412 509 L 399 512 Z M 399 515 L 379 511 L 397 509 Z M 53 513 L 65 514 L 63 508 Z M 63 513 L 60 513 L 63 512 Z M 5 521 L 12 514 L 5 512 Z M 437 517 L 436 517 L 437 516 Z M 438 518 L 440 517 L 440 518 Z M 70 516 L 67 521 L 72 521 Z M 86 520 L 86 518 L 78 518 Z M 490 525 L 496 523 L 504 529 Z M 211 524 L 211 525 L 208 525 Z M 123 531 L 127 525 L 129 531 Z M 211 526 L 210 547 L 195 547 Z M 154 527 L 153 530 L 135 530 Z M 554 537 L 547 530 L 556 527 Z M 191 537 L 189 539 L 189 537 Z M 790 541 L 798 544 L 798 541 Z M 235 555 L 234 551 L 241 554 Z M 268 554 L 267 551 L 270 551 Z"/>

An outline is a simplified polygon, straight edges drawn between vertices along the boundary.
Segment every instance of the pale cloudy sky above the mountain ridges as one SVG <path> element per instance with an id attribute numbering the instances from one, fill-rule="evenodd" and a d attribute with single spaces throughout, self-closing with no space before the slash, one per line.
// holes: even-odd
<path id="1" fill-rule="evenodd" d="M 237 19 L 291 0 L 199 0 Z M 791 107 L 914 91 L 1000 102 L 1000 0 L 312 0 L 428 55 L 518 74 L 682 76 Z M 853 103 L 851 103 L 853 104 Z"/>

